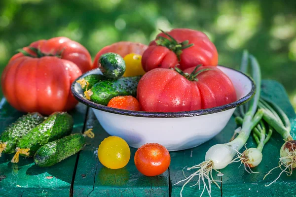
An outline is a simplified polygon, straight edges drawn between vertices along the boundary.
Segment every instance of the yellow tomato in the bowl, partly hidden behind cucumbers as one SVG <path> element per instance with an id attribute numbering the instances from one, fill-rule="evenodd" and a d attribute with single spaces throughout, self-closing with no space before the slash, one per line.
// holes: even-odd
<path id="1" fill-rule="evenodd" d="M 125 72 L 123 74 L 124 77 L 132 77 L 145 74 L 145 71 L 141 64 L 141 55 L 130 53 L 124 56 L 123 60 L 125 61 L 126 66 Z"/>

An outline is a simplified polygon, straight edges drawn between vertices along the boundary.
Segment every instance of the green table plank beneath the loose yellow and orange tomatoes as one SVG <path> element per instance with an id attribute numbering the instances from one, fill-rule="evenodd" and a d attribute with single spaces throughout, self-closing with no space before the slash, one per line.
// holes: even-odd
<path id="1" fill-rule="evenodd" d="M 93 128 L 95 138 L 88 139 L 84 147 L 74 180 L 74 197 L 168 197 L 168 170 L 159 177 L 147 177 L 138 172 L 134 164 L 136 149 L 131 148 L 131 159 L 121 169 L 108 169 L 98 159 L 97 149 L 108 133 L 99 124 L 92 110 L 89 111 L 86 129 Z"/>

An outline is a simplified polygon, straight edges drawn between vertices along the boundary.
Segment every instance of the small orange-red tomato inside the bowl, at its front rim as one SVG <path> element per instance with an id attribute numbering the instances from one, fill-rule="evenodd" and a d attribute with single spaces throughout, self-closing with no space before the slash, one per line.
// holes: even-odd
<path id="1" fill-rule="evenodd" d="M 112 98 L 108 105 L 109 107 L 126 109 L 132 111 L 140 111 L 139 101 L 132 96 L 118 96 Z"/>

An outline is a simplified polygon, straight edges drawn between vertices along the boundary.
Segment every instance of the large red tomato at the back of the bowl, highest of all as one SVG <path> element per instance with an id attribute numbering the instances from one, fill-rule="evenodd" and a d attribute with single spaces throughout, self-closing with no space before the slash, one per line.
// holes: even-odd
<path id="1" fill-rule="evenodd" d="M 206 34 L 190 29 L 159 33 L 142 57 L 142 66 L 146 72 L 158 67 L 173 68 L 178 65 L 184 70 L 197 65 L 217 64 L 215 45 Z"/>

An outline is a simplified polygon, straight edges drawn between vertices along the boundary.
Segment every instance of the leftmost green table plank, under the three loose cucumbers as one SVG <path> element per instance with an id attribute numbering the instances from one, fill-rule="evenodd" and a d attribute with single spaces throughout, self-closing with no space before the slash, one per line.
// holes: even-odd
<path id="1" fill-rule="evenodd" d="M 4 99 L 0 105 L 0 133 L 23 113 L 13 109 Z M 78 104 L 70 112 L 74 118 L 73 132 L 81 132 L 86 106 Z M 0 197 L 66 197 L 76 161 L 76 155 L 48 168 L 37 167 L 32 158 L 20 157 L 18 164 L 10 163 L 13 154 L 0 158 Z M 3 178 L 3 179 L 2 179 Z"/>

